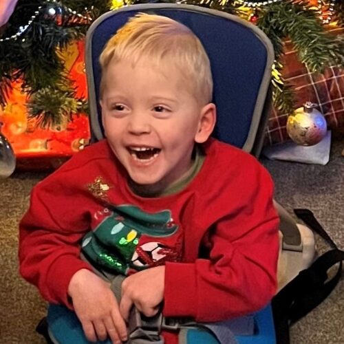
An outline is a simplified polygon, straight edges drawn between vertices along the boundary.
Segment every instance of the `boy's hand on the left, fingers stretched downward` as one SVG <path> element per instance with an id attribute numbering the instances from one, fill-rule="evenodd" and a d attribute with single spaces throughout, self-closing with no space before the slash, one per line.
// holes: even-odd
<path id="1" fill-rule="evenodd" d="M 81 269 L 70 280 L 68 294 L 89 341 L 105 341 L 107 336 L 112 343 L 127 340 L 127 327 L 109 283 Z"/>

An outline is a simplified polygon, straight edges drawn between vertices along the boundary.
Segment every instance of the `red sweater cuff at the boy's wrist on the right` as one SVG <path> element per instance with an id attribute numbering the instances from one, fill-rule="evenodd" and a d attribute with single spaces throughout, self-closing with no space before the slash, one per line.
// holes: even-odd
<path id="1" fill-rule="evenodd" d="M 164 316 L 197 315 L 195 264 L 166 262 Z"/>

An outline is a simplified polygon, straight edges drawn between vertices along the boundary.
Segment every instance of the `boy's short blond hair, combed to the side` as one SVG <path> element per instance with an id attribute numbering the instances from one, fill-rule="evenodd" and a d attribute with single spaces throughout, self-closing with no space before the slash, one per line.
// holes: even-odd
<path id="1" fill-rule="evenodd" d="M 209 103 L 213 94 L 211 65 L 200 39 L 182 23 L 168 17 L 139 13 L 109 39 L 100 54 L 103 96 L 103 76 L 109 63 L 128 61 L 136 65 L 140 58 L 152 63 L 171 63 L 178 67 L 190 87 L 191 94 L 200 103 Z M 164 66 L 168 68 L 168 65 Z"/>

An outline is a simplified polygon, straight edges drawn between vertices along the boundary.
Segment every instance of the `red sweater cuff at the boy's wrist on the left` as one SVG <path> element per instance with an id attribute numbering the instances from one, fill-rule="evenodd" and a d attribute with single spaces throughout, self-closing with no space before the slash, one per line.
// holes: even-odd
<path id="1" fill-rule="evenodd" d="M 47 285 L 50 286 L 52 300 L 73 310 L 72 299 L 68 295 L 68 286 L 73 275 L 81 269 L 92 271 L 89 264 L 74 255 L 63 255 L 54 261 L 47 274 Z"/>

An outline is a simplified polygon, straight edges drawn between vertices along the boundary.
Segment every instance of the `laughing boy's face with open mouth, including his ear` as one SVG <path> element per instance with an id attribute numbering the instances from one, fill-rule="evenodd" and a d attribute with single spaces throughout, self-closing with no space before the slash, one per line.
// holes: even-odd
<path id="1" fill-rule="evenodd" d="M 163 191 L 191 167 L 195 142 L 215 124 L 215 105 L 200 105 L 177 68 L 142 58 L 110 63 L 100 102 L 105 135 L 133 182 Z M 213 122 L 212 122 L 213 121 Z"/>

